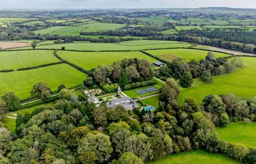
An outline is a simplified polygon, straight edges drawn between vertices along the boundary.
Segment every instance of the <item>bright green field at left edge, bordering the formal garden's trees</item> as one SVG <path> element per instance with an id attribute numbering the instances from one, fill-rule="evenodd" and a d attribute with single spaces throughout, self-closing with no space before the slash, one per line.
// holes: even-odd
<path id="1" fill-rule="evenodd" d="M 67 87 L 79 85 L 86 78 L 86 74 L 68 66 L 59 64 L 26 71 L 13 71 L 0 74 L 0 95 L 14 92 L 20 98 L 30 97 L 30 90 L 38 82 L 47 83 L 51 90 L 57 90 L 59 85 Z"/>

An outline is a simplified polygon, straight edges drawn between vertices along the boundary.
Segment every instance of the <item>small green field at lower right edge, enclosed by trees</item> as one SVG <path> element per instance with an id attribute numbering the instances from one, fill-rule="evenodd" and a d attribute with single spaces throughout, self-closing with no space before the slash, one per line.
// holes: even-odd
<path id="1" fill-rule="evenodd" d="M 230 123 L 225 128 L 217 128 L 217 131 L 220 140 L 256 148 L 256 122 Z"/>

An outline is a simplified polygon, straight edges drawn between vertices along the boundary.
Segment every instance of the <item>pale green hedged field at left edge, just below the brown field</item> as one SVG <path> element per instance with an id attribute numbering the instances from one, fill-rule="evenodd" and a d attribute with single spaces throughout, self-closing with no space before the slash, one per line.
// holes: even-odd
<path id="1" fill-rule="evenodd" d="M 59 62 L 52 50 L 24 50 L 0 52 L 0 70 L 20 69 Z"/>

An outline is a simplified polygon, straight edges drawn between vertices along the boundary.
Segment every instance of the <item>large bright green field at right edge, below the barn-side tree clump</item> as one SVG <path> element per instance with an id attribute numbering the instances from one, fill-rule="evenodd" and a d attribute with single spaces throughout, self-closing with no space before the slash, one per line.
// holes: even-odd
<path id="1" fill-rule="evenodd" d="M 256 95 L 256 58 L 244 57 L 244 68 L 236 69 L 231 74 L 214 77 L 214 82 L 206 84 L 195 79 L 192 87 L 182 89 L 179 101 L 192 98 L 200 103 L 206 95 L 233 93 L 239 98 L 250 100 Z"/>

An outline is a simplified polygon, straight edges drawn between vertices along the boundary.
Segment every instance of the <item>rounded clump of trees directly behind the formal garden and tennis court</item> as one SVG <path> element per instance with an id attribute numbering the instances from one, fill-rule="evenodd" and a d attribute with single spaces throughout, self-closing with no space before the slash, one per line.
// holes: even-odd
<path id="1" fill-rule="evenodd" d="M 91 69 L 83 83 L 88 88 L 102 87 L 103 90 L 115 84 L 124 88 L 132 88 L 150 85 L 153 76 L 151 63 L 148 63 L 147 60 L 126 58 L 109 66 L 98 66 L 97 69 Z"/>

